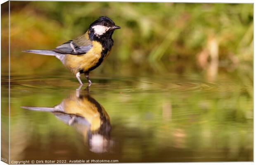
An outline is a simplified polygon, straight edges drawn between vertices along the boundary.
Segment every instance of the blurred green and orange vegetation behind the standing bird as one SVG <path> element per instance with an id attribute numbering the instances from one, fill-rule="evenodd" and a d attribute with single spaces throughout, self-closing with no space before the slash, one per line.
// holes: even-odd
<path id="1" fill-rule="evenodd" d="M 55 58 L 21 51 L 53 49 L 83 34 L 97 17 L 108 16 L 122 28 L 113 35 L 111 56 L 93 73 L 202 73 L 209 79 L 218 73 L 234 73 L 252 80 L 253 4 L 10 4 L 11 72 L 65 70 Z M 8 21 L 5 11 L 3 22 Z M 7 40 L 8 29 L 3 30 Z"/>

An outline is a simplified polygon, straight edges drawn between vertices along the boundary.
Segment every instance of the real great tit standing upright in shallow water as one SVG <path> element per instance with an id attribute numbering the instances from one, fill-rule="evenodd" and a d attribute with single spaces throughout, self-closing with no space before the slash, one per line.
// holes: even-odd
<path id="1" fill-rule="evenodd" d="M 69 69 L 80 85 L 80 75 L 84 73 L 89 85 L 92 81 L 89 72 L 100 66 L 109 56 L 114 40 L 114 30 L 121 28 L 107 16 L 100 16 L 93 21 L 85 34 L 57 46 L 53 50 L 24 50 L 23 52 L 55 56 Z"/>

